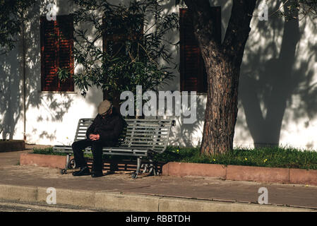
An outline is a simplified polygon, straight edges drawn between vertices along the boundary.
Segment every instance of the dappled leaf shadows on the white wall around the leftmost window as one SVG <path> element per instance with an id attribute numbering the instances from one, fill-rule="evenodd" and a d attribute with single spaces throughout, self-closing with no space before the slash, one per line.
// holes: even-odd
<path id="1" fill-rule="evenodd" d="M 41 59 L 40 59 L 40 16 L 47 13 L 47 4 L 44 1 L 37 1 L 26 15 L 25 23 L 25 90 L 26 90 L 26 112 L 28 109 L 38 109 L 37 121 L 61 121 L 71 99 L 63 95 L 59 100 L 56 95 L 49 93 L 42 95 L 41 90 Z M 0 61 L 0 126 L 4 127 L 2 138 L 13 136 L 23 138 L 23 42 L 22 37 L 18 37 L 16 48 L 8 56 L 1 56 Z M 49 112 L 49 117 L 42 117 L 40 112 Z M 28 126 L 28 122 L 27 122 Z M 19 128 L 17 133 L 16 129 Z M 45 128 L 45 126 L 43 126 Z M 2 128 L 0 128 L 1 131 Z M 28 128 L 26 129 L 28 133 Z M 54 134 L 47 131 L 30 131 L 39 133 L 39 136 L 54 139 Z"/>

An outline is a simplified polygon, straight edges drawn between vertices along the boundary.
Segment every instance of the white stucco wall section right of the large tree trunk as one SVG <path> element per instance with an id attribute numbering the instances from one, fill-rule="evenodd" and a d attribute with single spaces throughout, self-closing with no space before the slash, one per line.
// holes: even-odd
<path id="1" fill-rule="evenodd" d="M 280 6 L 268 2 L 268 14 Z M 258 14 L 256 8 L 253 15 Z M 236 144 L 317 148 L 316 19 L 302 18 L 253 17 L 241 65 Z"/>

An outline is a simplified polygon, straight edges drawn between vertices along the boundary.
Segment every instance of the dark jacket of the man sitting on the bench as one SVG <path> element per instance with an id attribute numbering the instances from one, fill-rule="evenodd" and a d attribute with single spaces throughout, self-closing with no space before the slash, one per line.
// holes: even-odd
<path id="1" fill-rule="evenodd" d="M 99 134 L 100 140 L 110 141 L 116 143 L 118 138 L 126 125 L 126 121 L 121 117 L 115 108 L 112 109 L 112 114 L 107 115 L 102 119 L 100 114 L 97 114 L 92 124 L 86 132 L 87 139 L 90 140 L 89 135 Z"/>

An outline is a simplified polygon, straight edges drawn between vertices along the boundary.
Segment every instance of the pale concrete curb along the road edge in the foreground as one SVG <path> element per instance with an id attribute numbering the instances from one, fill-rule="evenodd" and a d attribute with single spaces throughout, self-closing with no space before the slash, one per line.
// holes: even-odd
<path id="1" fill-rule="evenodd" d="M 47 188 L 0 184 L 0 198 L 46 203 Z M 316 208 L 259 205 L 194 198 L 56 189 L 56 203 L 82 208 L 151 212 L 298 212 Z M 48 204 L 47 204 L 48 205 Z"/>

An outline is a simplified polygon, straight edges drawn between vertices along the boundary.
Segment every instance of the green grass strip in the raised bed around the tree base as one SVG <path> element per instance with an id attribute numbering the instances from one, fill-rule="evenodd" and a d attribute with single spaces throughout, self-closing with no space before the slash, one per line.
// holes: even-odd
<path id="1" fill-rule="evenodd" d="M 33 153 L 45 155 L 66 155 L 54 153 L 53 148 L 35 148 Z M 92 157 L 85 154 L 85 157 Z M 121 159 L 121 156 L 104 155 L 104 159 Z M 296 148 L 237 148 L 222 155 L 201 155 L 199 148 L 167 147 L 164 153 L 155 155 L 159 162 L 194 162 L 221 165 L 246 165 L 256 167 L 281 167 L 297 169 L 317 169 L 317 152 Z"/>

